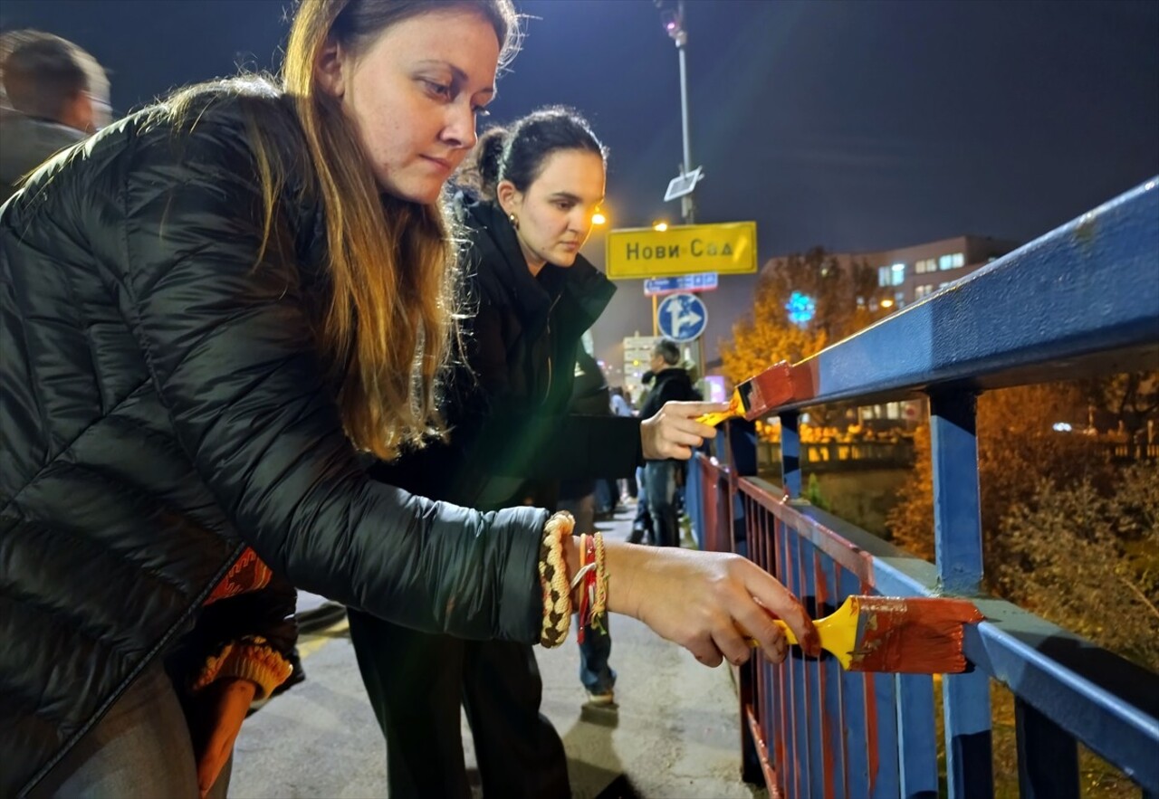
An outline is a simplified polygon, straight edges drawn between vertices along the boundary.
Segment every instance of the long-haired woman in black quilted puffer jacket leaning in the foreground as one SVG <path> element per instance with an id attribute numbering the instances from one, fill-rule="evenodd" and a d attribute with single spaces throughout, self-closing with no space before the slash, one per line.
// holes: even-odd
<path id="1" fill-rule="evenodd" d="M 439 193 L 513 20 L 301 3 L 284 87 L 178 94 L 0 208 L 0 794 L 196 793 L 160 660 L 263 569 L 416 629 L 540 639 L 547 512 L 421 499 L 360 455 L 439 430 Z M 746 657 L 734 621 L 783 655 L 753 596 L 811 632 L 751 563 L 647 557 L 608 548 L 608 607 L 706 662 Z"/>

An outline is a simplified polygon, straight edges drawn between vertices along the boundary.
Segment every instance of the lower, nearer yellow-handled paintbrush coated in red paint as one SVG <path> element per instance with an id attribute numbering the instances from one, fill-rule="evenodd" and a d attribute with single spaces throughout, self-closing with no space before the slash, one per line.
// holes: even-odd
<path id="1" fill-rule="evenodd" d="M 924 596 L 848 596 L 814 622 L 821 647 L 848 672 L 958 674 L 965 670 L 962 629 L 983 615 L 972 602 Z M 790 644 L 796 636 L 774 620 Z M 757 642 L 748 639 L 750 645 Z"/>

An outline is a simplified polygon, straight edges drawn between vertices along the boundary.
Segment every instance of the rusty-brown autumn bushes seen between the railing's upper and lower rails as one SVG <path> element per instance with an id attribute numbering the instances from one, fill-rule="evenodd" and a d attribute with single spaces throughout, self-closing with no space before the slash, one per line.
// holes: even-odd
<path id="1" fill-rule="evenodd" d="M 1081 416 L 1088 384 L 978 398 L 986 588 L 1102 646 L 1159 668 L 1159 468 L 1116 469 L 1098 441 L 1052 428 Z M 888 518 L 895 543 L 932 560 L 930 428 Z"/>

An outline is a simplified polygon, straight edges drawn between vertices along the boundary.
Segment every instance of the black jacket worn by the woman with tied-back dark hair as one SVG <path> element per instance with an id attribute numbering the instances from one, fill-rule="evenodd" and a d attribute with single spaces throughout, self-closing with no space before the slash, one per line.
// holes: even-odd
<path id="1" fill-rule="evenodd" d="M 532 276 L 493 203 L 460 203 L 469 248 L 471 373 L 447 381 L 446 445 L 378 467 L 379 478 L 469 507 L 552 507 L 559 481 L 632 475 L 640 420 L 568 410 L 581 337 L 615 286 L 582 256 Z"/>

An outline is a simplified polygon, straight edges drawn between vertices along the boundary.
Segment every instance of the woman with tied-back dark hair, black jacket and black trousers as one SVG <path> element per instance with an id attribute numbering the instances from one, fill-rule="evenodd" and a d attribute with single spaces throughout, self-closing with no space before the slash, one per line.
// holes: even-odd
<path id="1" fill-rule="evenodd" d="M 615 291 L 580 255 L 604 176 L 603 145 L 567 109 L 542 109 L 481 137 L 459 176 L 475 309 L 471 374 L 451 381 L 450 442 L 388 464 L 381 479 L 479 510 L 552 508 L 561 478 L 627 477 L 646 453 L 688 457 L 688 446 L 712 434 L 694 419 L 707 408 L 699 403 L 675 403 L 643 423 L 606 409 L 567 412 L 581 337 Z M 583 660 L 600 673 L 581 675 L 591 694 L 611 698 L 607 640 L 592 638 L 599 635 L 585 630 Z M 357 611 L 351 637 L 386 735 L 392 796 L 469 794 L 460 686 L 484 794 L 570 796 L 562 742 L 539 712 L 531 647 L 428 636 Z"/>

